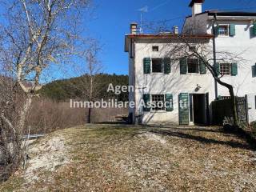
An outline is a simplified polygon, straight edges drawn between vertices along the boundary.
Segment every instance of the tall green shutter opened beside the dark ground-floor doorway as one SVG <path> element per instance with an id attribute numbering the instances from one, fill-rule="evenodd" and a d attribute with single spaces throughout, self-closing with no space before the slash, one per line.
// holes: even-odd
<path id="1" fill-rule="evenodd" d="M 180 125 L 189 125 L 190 109 L 189 109 L 189 94 L 182 93 L 178 95 L 178 118 Z"/>

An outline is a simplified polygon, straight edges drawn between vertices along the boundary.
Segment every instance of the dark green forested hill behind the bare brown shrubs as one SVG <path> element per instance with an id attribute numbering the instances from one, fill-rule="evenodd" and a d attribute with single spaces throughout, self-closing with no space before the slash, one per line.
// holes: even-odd
<path id="1" fill-rule="evenodd" d="M 86 76 L 81 76 L 50 82 L 42 87 L 40 94 L 57 102 L 67 101 L 70 98 L 86 99 L 83 94 L 83 89 L 86 89 L 85 81 Z M 98 92 L 98 98 L 117 98 L 118 101 L 128 101 L 128 93 L 119 95 L 107 93 L 110 83 L 113 86 L 128 86 L 128 75 L 98 74 L 95 77 L 95 86 L 97 87 L 95 92 Z"/>

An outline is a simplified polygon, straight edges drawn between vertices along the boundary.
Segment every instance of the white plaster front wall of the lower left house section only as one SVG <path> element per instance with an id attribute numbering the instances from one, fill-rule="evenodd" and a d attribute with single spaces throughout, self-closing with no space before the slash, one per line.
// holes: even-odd
<path id="1" fill-rule="evenodd" d="M 159 46 L 159 52 L 153 52 L 152 46 Z M 174 110 L 172 112 L 143 112 L 136 108 L 138 114 L 143 114 L 143 123 L 174 123 L 178 124 L 178 94 L 206 94 L 210 101 L 214 100 L 214 80 L 209 71 L 207 74 L 180 74 L 179 63 L 174 63 L 170 74 L 144 74 L 143 58 L 164 58 L 168 53 L 166 43 L 139 42 L 135 44 L 135 102 L 142 101 L 143 94 L 173 94 Z M 196 92 L 195 88 L 202 88 Z M 145 89 L 142 89 L 145 88 Z"/>

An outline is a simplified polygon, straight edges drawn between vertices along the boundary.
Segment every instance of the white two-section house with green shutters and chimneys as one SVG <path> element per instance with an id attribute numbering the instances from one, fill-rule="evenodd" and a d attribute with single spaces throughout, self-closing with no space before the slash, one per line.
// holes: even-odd
<path id="1" fill-rule="evenodd" d="M 142 124 L 210 124 L 211 103 L 229 98 L 226 87 L 214 82 L 210 71 L 197 58 L 171 62 L 166 54 L 179 41 L 178 37 L 205 44 L 216 51 L 218 71 L 222 81 L 234 86 L 238 97 L 246 95 L 249 122 L 256 120 L 256 13 L 202 12 L 204 0 L 192 0 L 192 14 L 186 17 L 182 33 L 139 34 L 136 23 L 130 25 L 125 38 L 129 53 L 129 94 L 132 122 Z M 223 62 L 218 53 L 229 52 L 241 56 L 238 62 Z M 212 57 L 212 56 L 210 56 Z M 213 62 L 214 64 L 214 62 Z M 166 102 L 166 106 L 142 106 L 145 102 Z"/>

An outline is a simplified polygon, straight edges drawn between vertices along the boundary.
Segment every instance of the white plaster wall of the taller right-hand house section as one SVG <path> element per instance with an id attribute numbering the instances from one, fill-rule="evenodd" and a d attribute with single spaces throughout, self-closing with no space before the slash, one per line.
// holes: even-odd
<path id="1" fill-rule="evenodd" d="M 251 34 L 251 25 L 249 22 L 225 22 L 219 21 L 219 24 L 234 23 L 236 35 L 234 37 L 216 38 L 216 50 L 220 52 L 229 52 L 238 55 L 241 58 L 238 62 L 237 76 L 224 76 L 222 81 L 234 86 L 234 94 L 239 97 L 244 97 L 246 94 L 250 98 L 256 95 L 256 77 L 253 77 L 252 66 L 256 63 L 256 37 Z M 210 25 L 210 23 L 209 23 Z M 211 27 L 207 31 L 211 33 Z M 218 58 L 218 55 L 217 55 Z M 218 85 L 218 95 L 229 95 L 225 87 Z M 249 99 L 249 105 L 254 105 L 254 99 Z M 255 107 L 254 107 L 255 108 Z M 256 120 L 256 111 L 249 110 L 250 122 Z"/>

